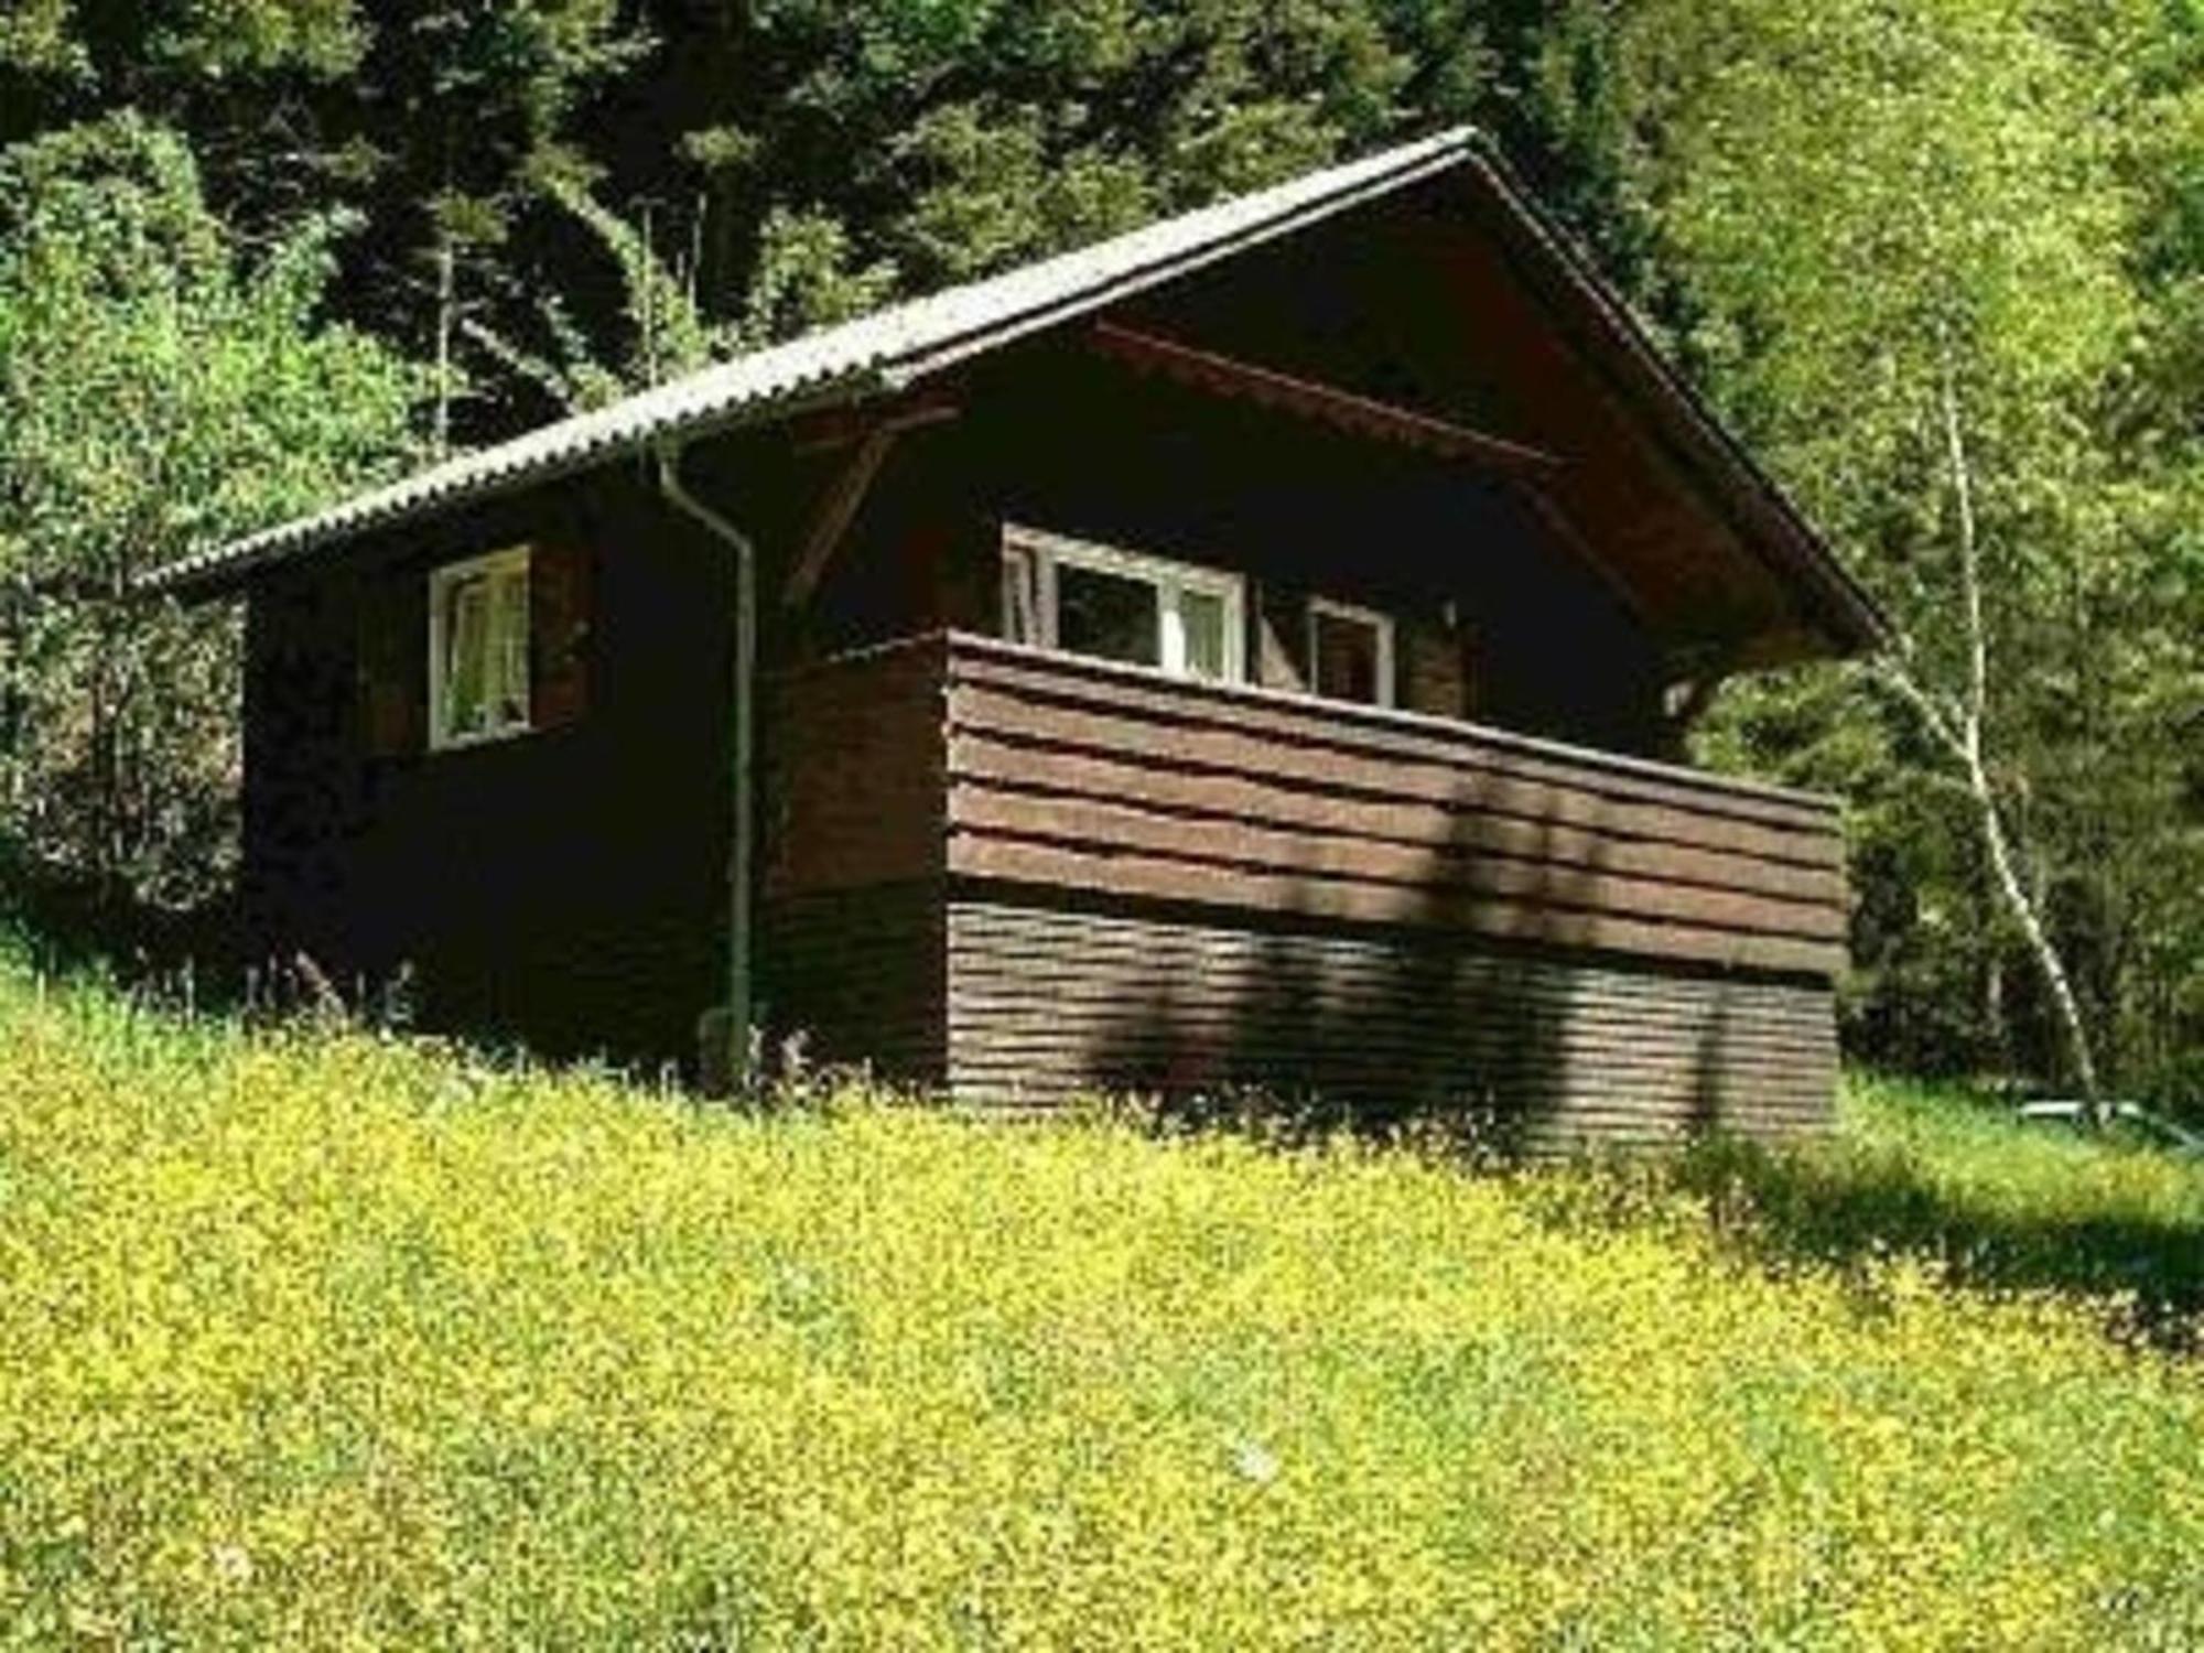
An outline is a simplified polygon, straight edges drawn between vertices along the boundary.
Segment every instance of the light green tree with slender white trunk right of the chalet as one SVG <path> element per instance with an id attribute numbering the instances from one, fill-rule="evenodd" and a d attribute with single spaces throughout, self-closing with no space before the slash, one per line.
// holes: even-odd
<path id="1" fill-rule="evenodd" d="M 2021 941 L 2089 1091 L 2116 1020 L 2074 968 L 2103 957 L 2089 844 L 2184 831 L 2171 800 L 2109 813 L 2162 756 L 2122 679 L 2197 659 L 2167 509 L 2195 454 L 2129 395 L 2153 335 L 2136 64 L 2162 26 L 2144 4 L 1646 0 L 1622 48 L 1629 190 L 1682 333 L 1900 630 L 1825 707 L 1865 710 L 1904 785 L 1957 804 L 1911 818 L 1968 835 L 1962 899 Z M 1796 707 L 1748 688 L 1730 719 L 1770 694 Z"/>

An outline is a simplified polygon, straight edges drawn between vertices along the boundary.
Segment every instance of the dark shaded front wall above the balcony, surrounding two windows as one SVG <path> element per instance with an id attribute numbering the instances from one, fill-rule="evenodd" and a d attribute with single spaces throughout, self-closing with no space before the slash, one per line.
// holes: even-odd
<path id="1" fill-rule="evenodd" d="M 1001 635 L 1001 533 L 1020 522 L 1241 573 L 1258 685 L 1305 685 L 1307 599 L 1325 595 L 1395 617 L 1406 707 L 1620 752 L 1668 738 L 1655 641 L 1505 478 L 1078 344 L 990 364 L 959 399 L 897 443 L 851 522 L 802 622 L 818 655 Z"/>

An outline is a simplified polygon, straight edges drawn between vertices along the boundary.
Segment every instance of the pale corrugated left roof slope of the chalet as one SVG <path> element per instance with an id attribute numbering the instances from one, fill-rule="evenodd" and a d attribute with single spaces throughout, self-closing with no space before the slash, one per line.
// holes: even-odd
<path id="1" fill-rule="evenodd" d="M 886 311 L 701 368 L 608 408 L 540 425 L 511 441 L 359 494 L 326 511 L 192 551 L 143 575 L 139 588 L 150 595 L 216 595 L 278 562 L 441 509 L 456 509 L 531 483 L 571 476 L 703 432 L 767 423 L 820 406 L 886 395 L 965 357 L 1175 280 L 1245 247 L 1294 234 L 1373 196 L 1419 183 L 1483 150 L 1485 143 L 1474 128 L 1450 128 L 1360 161 L 1289 179 L 1250 196 L 1197 207 L 1038 264 L 1023 264 L 963 287 L 906 300 Z M 1263 203 L 1276 205 L 1265 212 Z M 1241 218 L 1245 223 L 1236 223 Z M 1203 220 L 1212 220 L 1217 229 L 1208 236 L 1192 234 Z M 1181 240 L 1184 245 L 1175 245 Z M 1133 260 L 1122 271 L 1111 269 L 1113 256 L 1126 258 L 1142 242 L 1157 247 L 1150 260 Z M 1073 278 L 1082 264 L 1093 264 L 1093 276 Z M 1054 291 L 1051 273 L 1058 278 Z M 1038 291 L 1034 298 L 1016 302 L 1012 295 L 1018 287 Z M 990 291 L 1009 302 L 987 320 L 943 326 L 932 337 L 919 333 L 912 348 L 886 348 L 871 359 L 851 355 L 849 361 L 835 366 L 831 355 L 835 339 L 855 344 L 873 333 L 893 335 L 897 320 L 923 320 L 928 313 L 954 317 L 961 309 L 981 304 Z M 765 370 L 780 366 L 780 361 L 800 361 L 804 353 L 822 357 L 813 377 L 804 377 L 800 368 L 778 386 L 767 377 Z M 763 383 L 745 390 L 745 377 L 763 377 Z M 714 390 L 721 392 L 719 399 L 714 399 Z"/>

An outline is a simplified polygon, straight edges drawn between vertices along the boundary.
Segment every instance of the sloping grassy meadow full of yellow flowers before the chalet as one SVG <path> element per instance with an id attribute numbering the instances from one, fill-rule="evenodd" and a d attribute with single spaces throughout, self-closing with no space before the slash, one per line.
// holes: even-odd
<path id="1" fill-rule="evenodd" d="M 2195 1173 L 1951 1098 L 1470 1175 L 0 1040 L 0 1644 L 2204 1642 Z"/>

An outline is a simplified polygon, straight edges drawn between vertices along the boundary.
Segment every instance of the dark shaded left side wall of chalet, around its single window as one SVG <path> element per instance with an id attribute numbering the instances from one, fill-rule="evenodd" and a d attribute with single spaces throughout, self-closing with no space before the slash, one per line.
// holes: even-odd
<path id="1" fill-rule="evenodd" d="M 425 752 L 428 569 L 520 540 L 586 547 L 566 639 L 586 690 L 562 679 L 560 727 Z M 258 950 L 304 950 L 348 992 L 403 970 L 430 1027 L 688 1060 L 725 976 L 727 613 L 725 551 L 626 476 L 258 582 Z M 412 674 L 395 696 L 392 668 Z"/>

